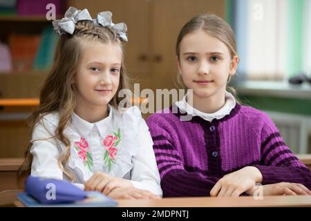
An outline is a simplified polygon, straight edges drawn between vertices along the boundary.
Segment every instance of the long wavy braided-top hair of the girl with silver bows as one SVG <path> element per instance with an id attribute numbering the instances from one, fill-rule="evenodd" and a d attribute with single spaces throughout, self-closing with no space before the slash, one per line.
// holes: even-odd
<path id="1" fill-rule="evenodd" d="M 70 140 L 64 134 L 64 128 L 70 123 L 71 114 L 76 107 L 76 98 L 71 80 L 82 57 L 81 41 L 95 40 L 101 41 L 104 44 L 117 43 L 122 44 L 117 37 L 115 31 L 109 27 L 95 26 L 92 21 L 79 21 L 75 25 L 73 35 L 61 35 L 57 42 L 53 67 L 48 73 L 48 77 L 40 93 L 40 104 L 28 119 L 31 131 L 35 125 L 44 117 L 44 115 L 57 111 L 59 113 L 59 123 L 55 129 L 55 135 L 52 137 L 59 140 L 66 146 L 66 149 L 58 157 L 58 165 L 63 173 L 73 181 L 73 175 L 70 175 L 64 168 L 70 157 Z M 123 88 L 129 88 L 129 77 L 126 75 L 124 64 L 122 62 L 120 68 L 120 84 L 113 99 L 109 102 L 111 106 L 117 108 L 121 101 L 117 95 Z M 49 137 L 50 138 L 50 137 Z M 32 141 L 34 142 L 34 141 Z M 31 171 L 32 155 L 30 148 L 32 142 L 28 144 L 25 155 L 25 160 L 17 173 L 17 178 L 20 186 Z"/>

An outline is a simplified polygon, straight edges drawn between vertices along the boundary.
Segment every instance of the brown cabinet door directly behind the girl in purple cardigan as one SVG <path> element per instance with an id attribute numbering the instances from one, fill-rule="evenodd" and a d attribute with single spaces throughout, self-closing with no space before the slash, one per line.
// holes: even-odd
<path id="1" fill-rule="evenodd" d="M 151 0 L 151 72 L 153 87 L 173 88 L 177 79 L 176 39 L 194 15 L 211 12 L 225 17 L 225 1 Z"/>

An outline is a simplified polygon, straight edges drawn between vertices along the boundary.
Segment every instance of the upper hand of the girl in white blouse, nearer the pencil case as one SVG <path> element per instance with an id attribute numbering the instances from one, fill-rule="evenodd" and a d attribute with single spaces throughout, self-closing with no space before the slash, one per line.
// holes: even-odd
<path id="1" fill-rule="evenodd" d="M 86 191 L 99 191 L 104 195 L 108 195 L 113 189 L 117 187 L 130 188 L 133 184 L 129 180 L 119 177 L 111 177 L 106 173 L 96 172 L 86 181 L 84 189 Z"/>

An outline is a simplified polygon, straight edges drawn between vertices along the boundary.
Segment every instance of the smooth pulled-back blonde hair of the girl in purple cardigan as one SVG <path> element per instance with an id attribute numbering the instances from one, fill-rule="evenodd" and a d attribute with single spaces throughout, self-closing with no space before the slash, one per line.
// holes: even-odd
<path id="1" fill-rule="evenodd" d="M 229 49 L 231 59 L 234 55 L 238 56 L 237 48 L 236 48 L 236 41 L 234 37 L 234 32 L 229 24 L 221 19 L 220 17 L 214 14 L 203 14 L 203 15 L 196 15 L 192 19 L 190 19 L 179 32 L 176 41 L 176 56 L 179 60 L 180 58 L 180 44 L 182 39 L 186 36 L 191 34 L 192 32 L 196 32 L 197 30 L 204 30 L 207 34 L 211 35 L 212 37 L 216 37 L 218 40 L 223 41 L 223 43 Z M 185 85 L 180 79 L 180 75 L 178 75 L 178 84 L 185 88 Z M 230 90 L 233 94 L 236 94 L 234 88 L 227 86 L 227 90 Z"/>

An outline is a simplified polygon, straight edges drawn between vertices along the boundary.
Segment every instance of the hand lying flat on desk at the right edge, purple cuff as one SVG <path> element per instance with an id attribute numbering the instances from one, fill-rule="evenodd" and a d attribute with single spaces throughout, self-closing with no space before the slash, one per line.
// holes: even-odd
<path id="1" fill-rule="evenodd" d="M 311 191 L 303 186 L 290 182 L 279 182 L 276 184 L 267 184 L 258 186 L 247 191 L 249 195 L 254 195 L 254 191 L 258 188 L 263 188 L 263 195 L 311 195 Z"/>

